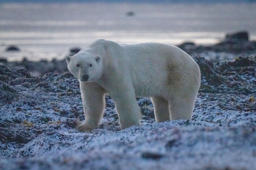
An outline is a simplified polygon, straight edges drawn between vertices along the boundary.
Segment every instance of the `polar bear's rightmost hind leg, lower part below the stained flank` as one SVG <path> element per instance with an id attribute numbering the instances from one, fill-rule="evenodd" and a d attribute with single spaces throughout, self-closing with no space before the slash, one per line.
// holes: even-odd
<path id="1" fill-rule="evenodd" d="M 191 120 L 193 109 L 195 104 L 195 98 L 184 98 L 180 96 L 173 97 L 169 101 L 169 110 L 171 120 L 187 119 Z"/>

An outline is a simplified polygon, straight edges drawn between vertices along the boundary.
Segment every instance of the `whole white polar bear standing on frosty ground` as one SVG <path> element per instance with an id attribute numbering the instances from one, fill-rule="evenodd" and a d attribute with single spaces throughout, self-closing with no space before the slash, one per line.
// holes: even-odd
<path id="1" fill-rule="evenodd" d="M 200 68 L 176 46 L 98 39 L 66 62 L 80 83 L 85 114 L 80 131 L 99 128 L 106 93 L 115 102 L 121 129 L 139 125 L 136 97 L 151 97 L 157 122 L 192 117 Z"/>

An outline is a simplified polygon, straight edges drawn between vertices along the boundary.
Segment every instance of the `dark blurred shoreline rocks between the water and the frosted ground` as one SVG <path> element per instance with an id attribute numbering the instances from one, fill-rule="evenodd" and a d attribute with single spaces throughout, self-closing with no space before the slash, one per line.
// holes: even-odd
<path id="1" fill-rule="evenodd" d="M 199 54 L 211 62 L 256 55 L 256 41 L 249 41 L 249 33 L 247 31 L 227 34 L 220 43 L 209 46 L 198 45 L 193 42 L 184 42 L 177 46 L 190 55 Z M 19 48 L 17 46 L 9 46 L 6 50 L 19 51 Z M 80 50 L 79 48 L 72 48 L 68 55 L 72 56 Z M 3 58 L 0 60 L 0 64 L 8 67 L 24 68 L 32 75 L 40 77 L 47 73 L 65 73 L 68 71 L 65 59 L 29 61 L 24 58 L 19 62 L 7 62 L 7 59 Z"/>

